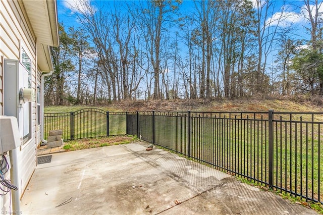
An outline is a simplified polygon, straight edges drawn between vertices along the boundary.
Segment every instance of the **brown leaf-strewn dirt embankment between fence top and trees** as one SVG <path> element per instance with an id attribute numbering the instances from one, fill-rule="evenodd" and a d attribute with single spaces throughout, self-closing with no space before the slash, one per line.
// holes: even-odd
<path id="1" fill-rule="evenodd" d="M 201 112 L 323 112 L 321 100 L 310 99 L 175 99 L 175 100 L 122 100 L 102 105 L 120 111 L 201 111 Z"/>

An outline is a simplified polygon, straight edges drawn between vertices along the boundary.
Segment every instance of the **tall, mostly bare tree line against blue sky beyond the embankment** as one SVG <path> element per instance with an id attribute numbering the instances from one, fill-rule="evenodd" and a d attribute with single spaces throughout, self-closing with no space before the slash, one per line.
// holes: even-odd
<path id="1" fill-rule="evenodd" d="M 107 2 L 71 6 L 80 26 L 59 26 L 45 104 L 120 99 L 323 94 L 320 3 L 295 13 L 268 0 Z"/>

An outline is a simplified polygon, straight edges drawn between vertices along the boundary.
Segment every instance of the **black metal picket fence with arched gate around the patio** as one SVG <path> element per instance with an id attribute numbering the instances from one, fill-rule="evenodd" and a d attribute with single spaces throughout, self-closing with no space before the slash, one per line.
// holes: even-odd
<path id="1" fill-rule="evenodd" d="M 232 175 L 322 203 L 323 113 L 86 109 L 46 114 L 44 123 L 47 131 L 53 124 L 63 129 L 65 139 L 137 135 Z"/>

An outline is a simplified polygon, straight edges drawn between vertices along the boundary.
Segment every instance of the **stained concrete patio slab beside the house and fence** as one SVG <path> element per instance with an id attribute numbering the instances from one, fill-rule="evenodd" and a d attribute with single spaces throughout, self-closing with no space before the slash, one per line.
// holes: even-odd
<path id="1" fill-rule="evenodd" d="M 316 214 L 233 176 L 144 143 L 52 154 L 23 214 Z"/>

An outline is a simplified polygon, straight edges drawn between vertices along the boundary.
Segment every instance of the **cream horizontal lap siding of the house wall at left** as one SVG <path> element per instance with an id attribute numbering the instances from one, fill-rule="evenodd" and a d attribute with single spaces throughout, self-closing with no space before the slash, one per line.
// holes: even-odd
<path id="1" fill-rule="evenodd" d="M 36 38 L 32 32 L 30 23 L 26 18 L 26 12 L 18 1 L 0 1 L 0 115 L 4 110 L 4 59 L 19 60 L 21 62 L 22 49 L 25 50 L 31 60 L 31 88 L 36 90 L 40 83 L 40 72 L 36 67 Z M 37 71 L 37 72 L 36 72 Z M 35 170 L 37 145 L 40 143 L 40 126 L 37 125 L 37 104 L 30 104 L 30 139 L 18 148 L 18 176 L 20 197 Z M 9 155 L 8 160 L 9 160 Z M 6 174 L 10 178 L 10 173 Z M 2 191 L 0 191 L 2 192 Z M 3 206 L 2 206 L 3 205 Z M 10 193 L 0 196 L 0 209 L 10 211 Z"/>

